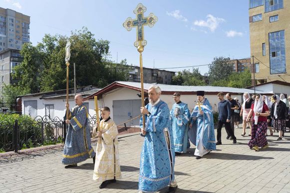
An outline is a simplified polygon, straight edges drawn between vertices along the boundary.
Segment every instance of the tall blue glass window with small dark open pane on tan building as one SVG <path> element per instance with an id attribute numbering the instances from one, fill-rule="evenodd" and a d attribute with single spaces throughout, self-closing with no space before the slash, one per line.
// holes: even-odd
<path id="1" fill-rule="evenodd" d="M 270 73 L 286 72 L 285 31 L 269 33 Z"/>

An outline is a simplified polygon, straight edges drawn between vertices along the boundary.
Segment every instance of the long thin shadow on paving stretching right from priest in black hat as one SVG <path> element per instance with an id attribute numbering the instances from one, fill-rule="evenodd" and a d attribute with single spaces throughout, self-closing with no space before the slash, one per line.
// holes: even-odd
<path id="1" fill-rule="evenodd" d="M 269 148 L 269 150 L 270 149 L 272 148 Z M 262 151 L 265 151 L 265 150 L 262 150 Z M 211 153 L 205 156 L 204 158 L 205 159 L 218 159 L 218 160 L 272 160 L 274 159 L 272 157 L 250 156 L 250 155 L 243 155 L 243 154 L 226 154 L 226 153 L 218 153 L 218 154 Z"/>

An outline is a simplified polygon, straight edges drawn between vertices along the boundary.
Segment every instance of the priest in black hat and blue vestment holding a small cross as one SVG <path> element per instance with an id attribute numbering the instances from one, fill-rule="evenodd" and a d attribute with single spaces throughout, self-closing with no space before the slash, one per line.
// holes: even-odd
<path id="1" fill-rule="evenodd" d="M 204 93 L 204 91 L 196 92 L 198 102 L 191 114 L 193 120 L 196 119 L 197 124 L 196 149 L 194 152 L 196 159 L 201 159 L 212 150 L 216 150 L 212 106 L 209 100 L 204 97 Z"/>

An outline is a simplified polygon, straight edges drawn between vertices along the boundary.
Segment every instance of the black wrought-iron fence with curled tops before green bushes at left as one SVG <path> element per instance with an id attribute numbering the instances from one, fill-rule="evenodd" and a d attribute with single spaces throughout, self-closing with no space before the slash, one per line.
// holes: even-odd
<path id="1" fill-rule="evenodd" d="M 95 116 L 89 118 L 89 126 L 95 125 Z M 63 120 L 55 117 L 37 116 L 30 121 L 14 124 L 0 123 L 0 152 L 14 151 L 38 147 L 42 145 L 52 145 L 65 141 L 67 127 Z"/>

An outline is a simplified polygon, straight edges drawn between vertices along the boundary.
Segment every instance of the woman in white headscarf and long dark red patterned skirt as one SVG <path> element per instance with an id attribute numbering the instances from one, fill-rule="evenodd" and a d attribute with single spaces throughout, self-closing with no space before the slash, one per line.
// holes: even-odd
<path id="1" fill-rule="evenodd" d="M 254 125 L 252 128 L 252 137 L 248 143 L 248 146 L 255 150 L 259 151 L 259 147 L 262 149 L 268 148 L 268 142 L 266 138 L 267 132 L 267 117 L 270 112 L 268 106 L 263 102 L 261 94 L 258 94 L 255 99 L 255 103 L 252 104 L 250 113 L 247 120 L 250 120 L 250 117 L 254 116 Z"/>

